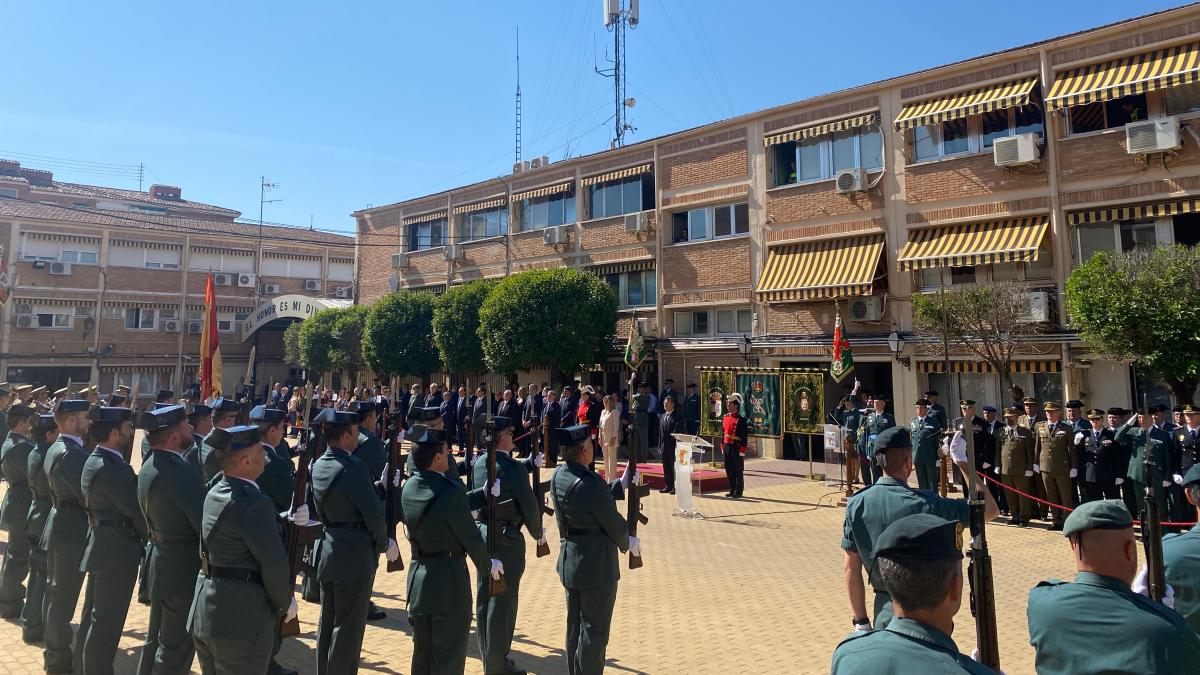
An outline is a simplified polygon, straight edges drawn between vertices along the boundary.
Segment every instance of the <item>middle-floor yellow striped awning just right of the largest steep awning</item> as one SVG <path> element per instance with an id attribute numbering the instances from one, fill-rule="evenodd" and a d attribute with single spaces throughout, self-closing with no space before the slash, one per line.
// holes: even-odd
<path id="1" fill-rule="evenodd" d="M 1038 259 L 1038 246 L 1049 227 L 1048 216 L 1032 216 L 914 229 L 908 233 L 896 263 L 901 271 L 1028 263 Z"/>

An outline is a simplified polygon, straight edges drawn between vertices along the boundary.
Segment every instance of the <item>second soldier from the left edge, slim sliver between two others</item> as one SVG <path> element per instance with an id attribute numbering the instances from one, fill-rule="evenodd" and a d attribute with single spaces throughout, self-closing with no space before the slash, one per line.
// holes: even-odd
<path id="1" fill-rule="evenodd" d="M 31 645 L 43 639 L 46 585 L 49 574 L 48 554 L 42 550 L 42 532 L 46 528 L 46 516 L 50 514 L 54 502 L 50 482 L 46 477 L 46 450 L 59 437 L 53 414 L 38 414 L 32 419 L 30 437 L 36 444 L 29 450 L 26 462 L 29 486 L 32 492 L 29 518 L 25 520 L 25 534 L 29 537 L 29 587 L 25 591 L 25 608 L 20 610 L 20 638 Z"/>

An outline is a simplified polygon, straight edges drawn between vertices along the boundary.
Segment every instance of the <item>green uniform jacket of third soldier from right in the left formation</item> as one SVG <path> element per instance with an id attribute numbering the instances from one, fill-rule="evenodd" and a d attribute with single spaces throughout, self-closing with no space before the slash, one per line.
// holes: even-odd
<path id="1" fill-rule="evenodd" d="M 409 455 L 412 456 L 412 455 Z M 452 465 L 452 462 L 451 462 Z M 408 566 L 408 614 L 470 611 L 470 577 L 463 551 L 487 574 L 487 545 L 470 520 L 467 489 L 436 471 L 418 471 L 401 491 L 413 561 Z M 454 556 L 430 556 L 451 551 Z"/>

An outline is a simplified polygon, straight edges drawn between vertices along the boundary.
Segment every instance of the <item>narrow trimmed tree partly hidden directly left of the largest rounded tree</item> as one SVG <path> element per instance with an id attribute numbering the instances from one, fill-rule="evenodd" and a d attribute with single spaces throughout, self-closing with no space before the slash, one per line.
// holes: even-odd
<path id="1" fill-rule="evenodd" d="M 450 372 L 486 372 L 479 340 L 479 310 L 494 287 L 494 281 L 480 279 L 454 286 L 433 301 L 433 344 Z"/>

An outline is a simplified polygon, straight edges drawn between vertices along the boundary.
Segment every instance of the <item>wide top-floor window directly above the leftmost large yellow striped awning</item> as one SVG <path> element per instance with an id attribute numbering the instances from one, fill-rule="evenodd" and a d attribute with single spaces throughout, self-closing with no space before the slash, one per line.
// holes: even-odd
<path id="1" fill-rule="evenodd" d="M 883 166 L 883 137 L 877 129 L 859 127 L 774 147 L 775 185 L 833 178 L 839 171 Z"/>

